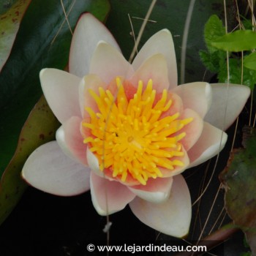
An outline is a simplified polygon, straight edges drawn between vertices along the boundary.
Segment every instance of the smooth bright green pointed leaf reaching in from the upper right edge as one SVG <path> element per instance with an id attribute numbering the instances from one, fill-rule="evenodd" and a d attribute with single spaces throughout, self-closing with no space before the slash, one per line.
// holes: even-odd
<path id="1" fill-rule="evenodd" d="M 211 42 L 220 50 L 238 52 L 256 48 L 256 32 L 252 30 L 237 30 Z"/>

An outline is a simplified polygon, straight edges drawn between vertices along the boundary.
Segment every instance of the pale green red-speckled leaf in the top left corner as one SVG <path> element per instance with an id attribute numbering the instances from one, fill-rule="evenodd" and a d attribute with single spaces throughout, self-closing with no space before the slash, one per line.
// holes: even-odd
<path id="1" fill-rule="evenodd" d="M 12 45 L 31 0 L 18 0 L 10 10 L 0 15 L 0 72 L 10 55 Z"/>

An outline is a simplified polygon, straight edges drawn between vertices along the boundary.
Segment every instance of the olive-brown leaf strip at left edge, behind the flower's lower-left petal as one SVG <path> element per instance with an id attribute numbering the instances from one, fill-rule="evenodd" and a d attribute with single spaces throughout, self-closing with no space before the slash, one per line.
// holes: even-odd
<path id="1" fill-rule="evenodd" d="M 4 171 L 0 184 L 0 224 L 18 203 L 27 185 L 20 179 L 24 161 L 38 146 L 55 138 L 59 121 L 48 107 L 45 97 L 41 97 L 26 120 L 15 154 Z"/>

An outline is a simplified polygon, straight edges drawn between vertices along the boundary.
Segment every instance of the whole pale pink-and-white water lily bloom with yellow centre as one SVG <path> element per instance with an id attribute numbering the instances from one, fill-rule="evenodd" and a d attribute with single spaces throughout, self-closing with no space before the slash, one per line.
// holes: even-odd
<path id="1" fill-rule="evenodd" d="M 54 195 L 91 189 L 101 215 L 127 204 L 140 221 L 182 237 L 191 199 L 181 173 L 225 146 L 224 129 L 244 108 L 249 89 L 239 85 L 177 86 L 170 31 L 154 34 L 132 64 L 91 14 L 72 37 L 69 72 L 43 69 L 42 90 L 61 122 L 56 141 L 27 159 L 23 178 Z"/>

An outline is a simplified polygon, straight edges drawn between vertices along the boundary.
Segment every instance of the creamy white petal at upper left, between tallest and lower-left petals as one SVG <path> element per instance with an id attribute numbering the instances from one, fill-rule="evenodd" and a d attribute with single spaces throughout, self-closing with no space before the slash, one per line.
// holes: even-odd
<path id="1" fill-rule="evenodd" d="M 72 116 L 81 116 L 80 78 L 59 69 L 42 69 L 40 80 L 45 98 L 61 124 Z"/>

